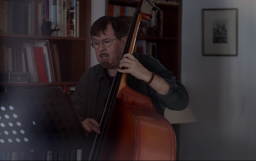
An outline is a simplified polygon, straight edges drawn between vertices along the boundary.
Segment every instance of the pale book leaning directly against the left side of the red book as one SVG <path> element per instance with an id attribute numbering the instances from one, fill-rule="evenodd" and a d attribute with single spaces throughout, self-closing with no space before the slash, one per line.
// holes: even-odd
<path id="1" fill-rule="evenodd" d="M 38 74 L 35 64 L 35 55 L 33 50 L 33 44 L 24 42 L 23 47 L 26 49 L 28 60 L 28 73 L 30 75 L 30 82 L 38 82 Z"/>

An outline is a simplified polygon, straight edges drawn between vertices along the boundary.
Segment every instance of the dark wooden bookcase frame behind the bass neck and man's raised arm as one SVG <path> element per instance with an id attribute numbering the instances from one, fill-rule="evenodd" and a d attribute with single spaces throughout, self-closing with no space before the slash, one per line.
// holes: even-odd
<path id="1" fill-rule="evenodd" d="M 109 15 L 110 5 L 137 7 L 140 0 L 106 0 L 106 15 Z M 182 0 L 156 1 L 162 10 L 162 36 L 137 36 L 137 40 L 155 42 L 158 47 L 157 59 L 167 70 L 171 71 L 176 80 L 181 79 L 181 17 Z M 154 11 L 152 11 L 154 12 Z"/>

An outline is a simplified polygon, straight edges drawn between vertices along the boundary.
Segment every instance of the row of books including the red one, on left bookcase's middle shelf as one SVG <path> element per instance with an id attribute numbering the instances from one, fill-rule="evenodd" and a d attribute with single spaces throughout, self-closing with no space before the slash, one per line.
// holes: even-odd
<path id="1" fill-rule="evenodd" d="M 60 82 L 61 70 L 57 44 L 30 40 L 22 45 L 0 46 L 1 72 L 27 72 L 29 82 Z"/>

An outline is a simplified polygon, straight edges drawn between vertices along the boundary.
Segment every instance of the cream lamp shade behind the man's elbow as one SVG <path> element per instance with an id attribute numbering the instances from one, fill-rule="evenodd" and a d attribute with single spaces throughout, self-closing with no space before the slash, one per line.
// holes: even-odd
<path id="1" fill-rule="evenodd" d="M 191 108 L 188 106 L 185 110 L 169 110 L 165 109 L 165 118 L 171 124 L 183 124 L 183 123 L 193 123 L 197 121 L 195 115 L 191 111 Z"/>

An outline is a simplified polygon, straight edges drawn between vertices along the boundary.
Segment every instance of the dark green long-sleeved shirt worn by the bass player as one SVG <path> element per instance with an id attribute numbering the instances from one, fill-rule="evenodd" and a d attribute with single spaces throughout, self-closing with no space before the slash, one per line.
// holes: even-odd
<path id="1" fill-rule="evenodd" d="M 141 62 L 145 68 L 155 72 L 160 77 L 171 84 L 171 89 L 167 95 L 158 94 L 153 88 L 145 84 L 144 81 L 135 79 L 132 75 L 127 75 L 127 85 L 135 91 L 146 95 L 152 99 L 156 111 L 164 115 L 165 108 L 171 110 L 184 110 L 189 103 L 189 97 L 184 86 L 175 80 L 175 76 L 160 64 L 159 60 L 151 55 L 142 53 L 133 53 L 136 59 Z M 80 119 L 93 118 L 100 122 L 105 102 L 110 90 L 107 70 L 97 64 L 85 71 L 76 86 L 72 95 L 72 101 L 77 110 Z"/>

